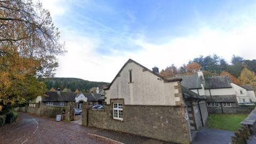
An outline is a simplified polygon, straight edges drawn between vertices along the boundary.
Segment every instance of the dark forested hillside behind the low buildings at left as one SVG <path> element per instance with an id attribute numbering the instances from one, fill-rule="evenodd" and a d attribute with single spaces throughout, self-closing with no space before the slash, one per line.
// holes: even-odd
<path id="1" fill-rule="evenodd" d="M 102 85 L 108 85 L 109 83 L 105 82 L 91 82 L 86 81 L 80 78 L 64 78 L 64 77 L 54 77 L 54 78 L 45 78 L 44 79 L 47 90 L 50 90 L 52 87 L 54 89 L 60 88 L 62 91 L 72 91 L 76 89 L 83 92 L 88 92 L 92 87 L 101 87 Z"/>

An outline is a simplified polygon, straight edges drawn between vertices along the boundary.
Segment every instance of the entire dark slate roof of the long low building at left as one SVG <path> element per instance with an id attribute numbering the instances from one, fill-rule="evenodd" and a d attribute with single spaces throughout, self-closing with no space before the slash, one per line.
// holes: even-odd
<path id="1" fill-rule="evenodd" d="M 55 92 L 46 92 L 45 93 L 48 97 L 43 98 L 42 101 L 76 101 L 75 98 L 78 94 L 75 94 L 74 92 L 60 92 L 58 94 L 58 91 Z M 87 101 L 98 101 L 98 100 L 104 100 L 105 97 L 101 94 L 91 94 L 91 93 L 83 93 L 84 96 L 87 98 Z"/>

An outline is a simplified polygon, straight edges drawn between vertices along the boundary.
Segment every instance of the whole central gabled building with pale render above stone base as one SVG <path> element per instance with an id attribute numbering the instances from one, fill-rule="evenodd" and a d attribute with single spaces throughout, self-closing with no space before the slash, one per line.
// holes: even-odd
<path id="1" fill-rule="evenodd" d="M 89 109 L 89 126 L 154 139 L 190 143 L 191 132 L 204 126 L 208 113 L 204 97 L 165 79 L 129 59 L 105 90 L 105 109 Z"/>

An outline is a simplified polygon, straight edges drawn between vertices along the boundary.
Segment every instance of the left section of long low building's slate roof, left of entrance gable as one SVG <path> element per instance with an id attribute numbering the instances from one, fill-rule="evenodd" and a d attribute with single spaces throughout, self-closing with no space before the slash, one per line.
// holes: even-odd
<path id="1" fill-rule="evenodd" d="M 42 101 L 75 101 L 76 94 L 73 92 L 46 92 L 48 97 L 43 98 Z"/>

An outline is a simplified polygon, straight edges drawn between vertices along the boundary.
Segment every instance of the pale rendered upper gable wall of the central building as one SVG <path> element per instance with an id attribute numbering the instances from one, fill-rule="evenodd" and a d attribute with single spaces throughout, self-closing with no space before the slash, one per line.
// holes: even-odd
<path id="1" fill-rule="evenodd" d="M 129 70 L 132 70 L 132 83 L 129 83 Z M 125 105 L 165 105 L 175 106 L 174 90 L 178 82 L 164 83 L 163 79 L 143 71 L 143 68 L 130 62 L 115 79 L 109 90 L 106 90 L 106 102 L 110 99 L 124 99 Z"/>

